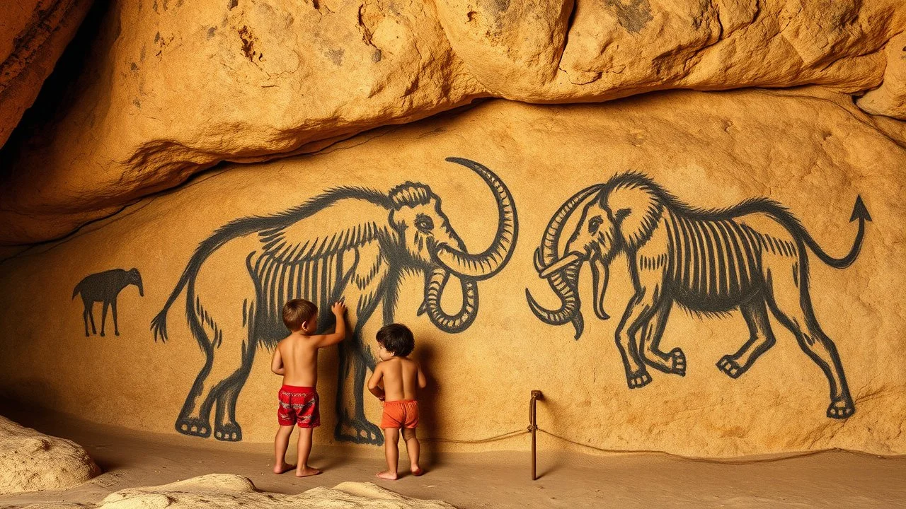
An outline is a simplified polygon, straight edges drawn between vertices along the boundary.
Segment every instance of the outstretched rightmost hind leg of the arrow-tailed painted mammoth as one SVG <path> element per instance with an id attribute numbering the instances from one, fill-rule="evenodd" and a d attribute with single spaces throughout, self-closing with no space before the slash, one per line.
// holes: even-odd
<path id="1" fill-rule="evenodd" d="M 787 261 L 783 270 L 766 271 L 767 305 L 777 321 L 793 332 L 805 354 L 824 371 L 830 385 L 831 396 L 827 417 L 848 418 L 855 412 L 855 405 L 846 385 L 846 377 L 843 375 L 843 364 L 840 362 L 834 341 L 821 330 L 814 317 L 812 300 L 808 293 L 808 259 L 799 256 L 798 262 L 801 267 L 795 263 L 791 267 Z M 776 279 L 770 277 L 770 274 L 777 274 Z M 802 284 L 801 288 L 799 283 Z"/>

